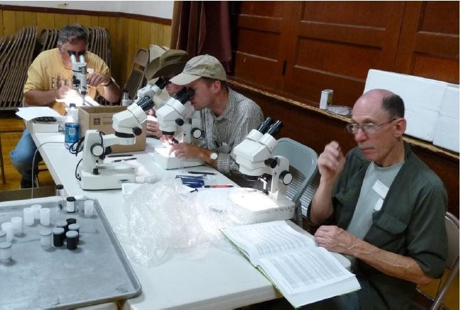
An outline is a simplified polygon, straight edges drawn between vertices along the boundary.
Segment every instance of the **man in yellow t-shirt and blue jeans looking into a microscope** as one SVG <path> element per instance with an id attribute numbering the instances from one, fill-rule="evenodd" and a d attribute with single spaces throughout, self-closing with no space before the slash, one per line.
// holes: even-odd
<path id="1" fill-rule="evenodd" d="M 99 93 L 109 102 L 120 100 L 121 91 L 110 75 L 104 60 L 92 52 L 87 52 L 88 31 L 79 24 L 65 26 L 60 30 L 58 48 L 40 53 L 28 69 L 24 84 L 24 106 L 50 106 L 58 113 L 65 110 L 58 99 L 65 99 L 75 92 L 72 89 L 72 64 L 70 54 L 77 59 L 85 55 L 87 62 L 87 94 L 95 98 Z M 63 113 L 64 112 L 64 113 Z M 32 160 L 36 151 L 29 131 L 23 132 L 10 157 L 16 170 L 21 173 L 21 188 L 32 187 Z M 40 161 L 36 160 L 35 164 Z"/>

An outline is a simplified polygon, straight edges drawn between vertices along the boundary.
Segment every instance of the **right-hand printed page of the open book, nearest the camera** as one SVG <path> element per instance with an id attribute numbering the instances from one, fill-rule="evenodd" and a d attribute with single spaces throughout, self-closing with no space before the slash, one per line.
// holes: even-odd
<path id="1" fill-rule="evenodd" d="M 325 248 L 292 250 L 260 258 L 255 263 L 288 294 L 306 292 L 354 277 Z"/>

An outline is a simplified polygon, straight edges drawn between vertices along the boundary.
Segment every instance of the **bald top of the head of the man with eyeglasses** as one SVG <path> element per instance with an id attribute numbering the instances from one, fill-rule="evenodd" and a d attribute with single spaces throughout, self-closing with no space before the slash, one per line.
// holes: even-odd
<path id="1" fill-rule="evenodd" d="M 405 116 L 403 100 L 400 96 L 387 89 L 371 89 L 360 96 L 355 104 L 374 104 L 391 116 L 391 118 L 403 118 Z"/>

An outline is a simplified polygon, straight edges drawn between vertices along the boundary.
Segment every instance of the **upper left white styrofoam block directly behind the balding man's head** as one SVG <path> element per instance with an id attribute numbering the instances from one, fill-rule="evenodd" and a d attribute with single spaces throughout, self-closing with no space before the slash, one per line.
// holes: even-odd
<path id="1" fill-rule="evenodd" d="M 447 82 L 371 69 L 364 92 L 370 89 L 388 89 L 401 96 L 405 106 L 418 106 L 430 111 L 440 111 Z"/>

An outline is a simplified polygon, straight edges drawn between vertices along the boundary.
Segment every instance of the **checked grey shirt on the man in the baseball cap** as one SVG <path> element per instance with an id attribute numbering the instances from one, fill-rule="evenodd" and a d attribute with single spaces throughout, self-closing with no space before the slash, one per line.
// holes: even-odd
<path id="1" fill-rule="evenodd" d="M 227 90 L 227 106 L 219 117 L 207 108 L 200 111 L 204 135 L 199 146 L 217 153 L 217 170 L 223 173 L 238 172 L 232 150 L 263 121 L 263 112 L 253 100 Z"/>

